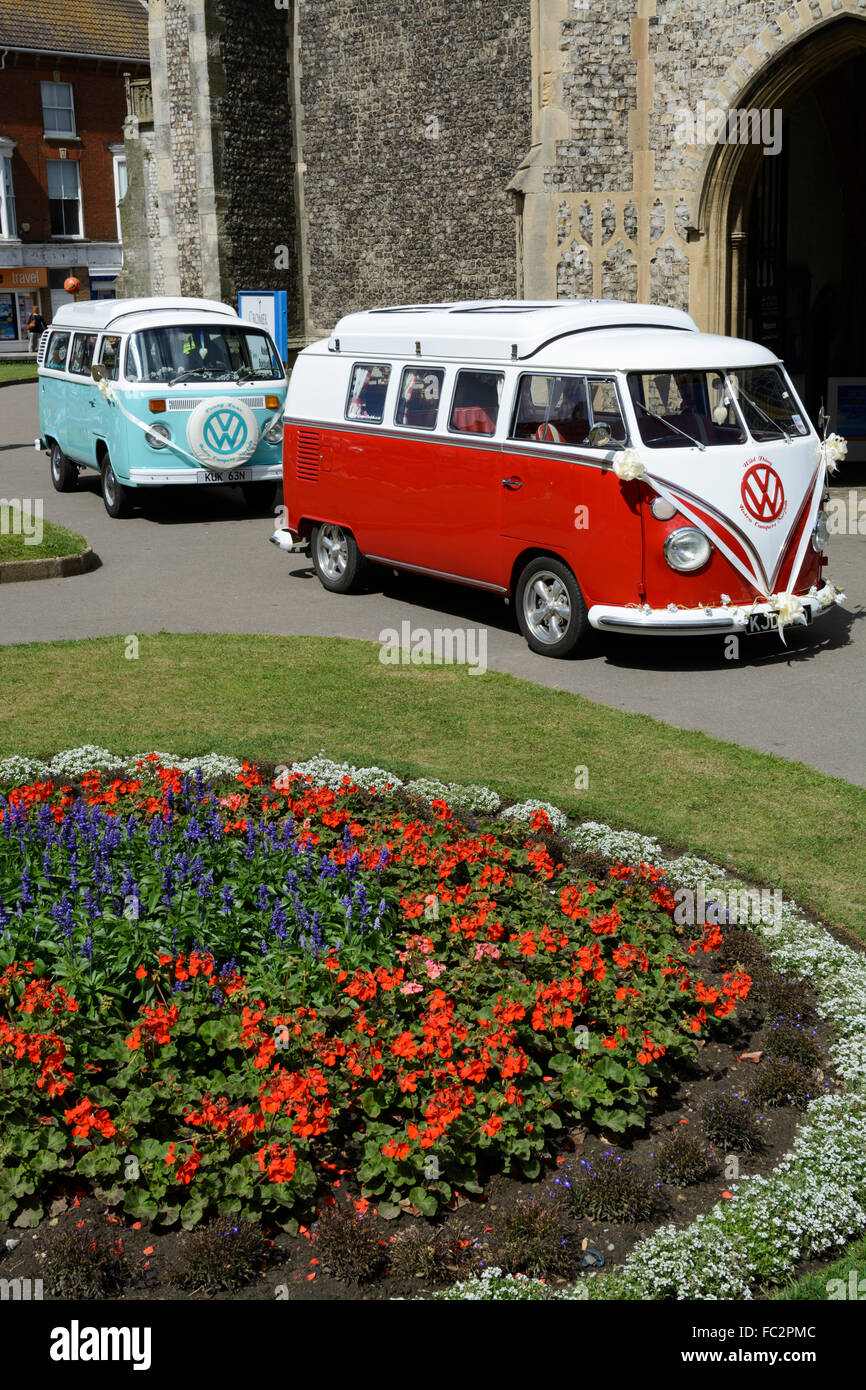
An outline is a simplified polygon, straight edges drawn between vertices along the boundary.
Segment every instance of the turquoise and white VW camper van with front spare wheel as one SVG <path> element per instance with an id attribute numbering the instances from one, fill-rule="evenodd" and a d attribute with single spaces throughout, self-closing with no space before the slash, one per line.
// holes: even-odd
<path id="1" fill-rule="evenodd" d="M 108 516 L 135 488 L 282 477 L 286 374 L 272 339 L 207 299 L 64 304 L 39 343 L 39 428 L 58 492 L 101 474 Z"/>

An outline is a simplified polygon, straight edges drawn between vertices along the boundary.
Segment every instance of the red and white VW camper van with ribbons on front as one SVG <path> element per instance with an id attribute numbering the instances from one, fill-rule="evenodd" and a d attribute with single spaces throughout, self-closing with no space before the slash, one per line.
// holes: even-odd
<path id="1" fill-rule="evenodd" d="M 377 309 L 296 360 L 271 539 L 336 592 L 373 563 L 499 594 L 548 656 L 781 631 L 837 594 L 824 455 L 771 352 L 677 309 Z"/>

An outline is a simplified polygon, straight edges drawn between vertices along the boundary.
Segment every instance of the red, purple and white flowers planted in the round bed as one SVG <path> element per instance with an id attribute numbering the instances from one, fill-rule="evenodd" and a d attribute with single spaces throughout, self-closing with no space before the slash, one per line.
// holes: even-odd
<path id="1" fill-rule="evenodd" d="M 335 1172 L 360 1211 L 432 1216 L 498 1172 L 538 1179 L 581 1119 L 639 1126 L 748 995 L 723 933 L 671 913 L 669 884 L 734 880 L 652 841 L 578 827 L 577 849 L 632 860 L 592 881 L 562 872 L 544 805 L 467 827 L 381 769 L 215 764 L 227 795 L 138 763 L 74 751 L 21 787 L 0 764 L 0 1219 L 39 1222 L 78 1177 L 139 1220 L 296 1230 Z M 849 1090 L 770 1177 L 571 1297 L 746 1297 L 866 1225 L 866 972 L 790 905 L 765 937 L 822 986 Z"/>

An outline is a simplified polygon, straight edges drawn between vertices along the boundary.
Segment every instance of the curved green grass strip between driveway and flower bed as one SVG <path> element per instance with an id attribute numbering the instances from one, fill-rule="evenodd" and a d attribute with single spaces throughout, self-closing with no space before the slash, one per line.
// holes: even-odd
<path id="1" fill-rule="evenodd" d="M 802 763 L 495 671 L 384 666 L 368 642 L 158 634 L 136 660 L 125 651 L 124 637 L 0 649 L 0 756 L 324 752 L 485 783 L 730 865 L 866 941 L 866 791 Z"/>

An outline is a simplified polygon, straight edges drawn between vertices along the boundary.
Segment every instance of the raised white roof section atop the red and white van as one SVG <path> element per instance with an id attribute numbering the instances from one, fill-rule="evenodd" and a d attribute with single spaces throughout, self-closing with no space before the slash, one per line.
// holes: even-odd
<path id="1" fill-rule="evenodd" d="M 564 339 L 607 329 L 659 328 L 696 334 L 681 309 L 620 299 L 477 299 L 450 304 L 402 304 L 346 314 L 328 339 L 339 353 L 520 361 L 548 343 L 562 357 Z M 420 349 L 418 349 L 420 345 Z"/>

